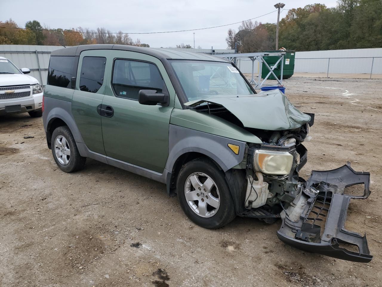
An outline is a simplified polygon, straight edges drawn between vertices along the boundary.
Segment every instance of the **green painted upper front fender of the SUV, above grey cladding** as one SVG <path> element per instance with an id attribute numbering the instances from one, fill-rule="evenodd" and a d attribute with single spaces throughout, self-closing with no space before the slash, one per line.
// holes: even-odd
<path id="1" fill-rule="evenodd" d="M 170 124 L 243 142 L 262 143 L 261 139 L 231 122 L 193 109 L 174 109 Z"/>

